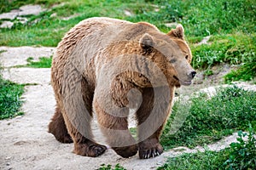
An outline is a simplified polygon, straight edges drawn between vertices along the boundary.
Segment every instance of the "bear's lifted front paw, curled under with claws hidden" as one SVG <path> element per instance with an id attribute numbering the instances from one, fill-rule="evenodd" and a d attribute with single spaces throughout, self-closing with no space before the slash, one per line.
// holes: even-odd
<path id="1" fill-rule="evenodd" d="M 128 158 L 137 154 L 137 144 L 125 147 L 113 147 L 112 148 L 119 156 Z"/>

